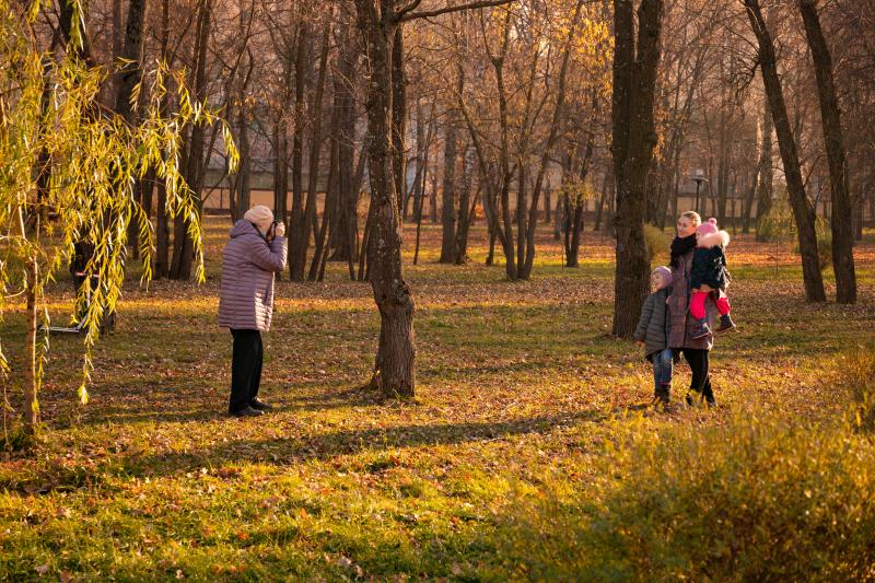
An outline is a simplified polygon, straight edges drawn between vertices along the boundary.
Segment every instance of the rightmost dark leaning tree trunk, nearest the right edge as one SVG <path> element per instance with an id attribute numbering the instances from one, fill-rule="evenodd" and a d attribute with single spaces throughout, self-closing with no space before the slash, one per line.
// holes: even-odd
<path id="1" fill-rule="evenodd" d="M 832 57 L 820 27 L 815 0 L 800 0 L 800 11 L 805 23 L 805 36 L 812 49 L 824 126 L 824 145 L 829 165 L 830 221 L 832 228 L 832 269 L 836 273 L 836 301 L 840 304 L 856 302 L 856 273 L 853 255 L 853 221 L 851 197 L 848 189 L 848 165 L 844 136 L 841 128 L 839 100 L 832 78 Z"/>

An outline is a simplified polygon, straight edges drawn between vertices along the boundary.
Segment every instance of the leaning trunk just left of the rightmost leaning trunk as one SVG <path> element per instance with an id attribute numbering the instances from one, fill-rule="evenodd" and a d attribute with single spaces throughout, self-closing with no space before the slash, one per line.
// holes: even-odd
<path id="1" fill-rule="evenodd" d="M 759 0 L 745 0 L 747 15 L 754 34 L 759 43 L 759 63 L 762 81 L 766 85 L 766 95 L 772 113 L 772 121 L 778 133 L 778 147 L 784 165 L 786 186 L 790 194 L 790 203 L 796 219 L 798 232 L 800 253 L 802 254 L 802 277 L 805 282 L 805 299 L 808 302 L 825 302 L 824 278 L 820 272 L 820 259 L 817 254 L 817 233 L 815 232 L 815 213 L 812 203 L 805 195 L 805 184 L 802 179 L 796 142 L 790 119 L 786 115 L 786 104 L 781 81 L 778 77 L 778 62 L 772 44 L 771 33 L 766 26 Z"/>

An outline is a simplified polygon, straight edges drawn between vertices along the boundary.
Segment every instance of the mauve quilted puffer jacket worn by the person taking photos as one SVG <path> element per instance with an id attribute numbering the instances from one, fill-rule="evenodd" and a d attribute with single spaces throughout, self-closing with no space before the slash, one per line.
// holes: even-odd
<path id="1" fill-rule="evenodd" d="M 268 331 L 273 317 L 273 273 L 285 268 L 287 241 L 268 243 L 249 221 L 231 229 L 222 255 L 219 326 Z"/>

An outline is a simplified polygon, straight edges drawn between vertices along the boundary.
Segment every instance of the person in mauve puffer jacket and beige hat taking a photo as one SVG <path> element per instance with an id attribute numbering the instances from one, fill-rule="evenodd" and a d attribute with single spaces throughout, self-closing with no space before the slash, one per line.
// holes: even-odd
<path id="1" fill-rule="evenodd" d="M 258 399 L 261 333 L 273 316 L 273 272 L 285 268 L 285 225 L 264 205 L 246 211 L 231 229 L 222 257 L 219 326 L 231 328 L 231 403 L 234 417 L 258 417 L 271 407 Z"/>

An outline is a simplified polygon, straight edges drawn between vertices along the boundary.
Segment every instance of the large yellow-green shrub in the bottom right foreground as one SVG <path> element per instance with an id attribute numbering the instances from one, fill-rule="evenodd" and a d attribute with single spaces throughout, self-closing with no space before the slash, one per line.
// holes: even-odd
<path id="1" fill-rule="evenodd" d="M 627 421 L 620 446 L 591 468 L 611 478 L 518 506 L 512 560 L 538 580 L 875 579 L 875 444 L 858 431 L 875 410 L 872 350 L 866 359 L 854 423 L 756 408 L 660 434 Z"/>

